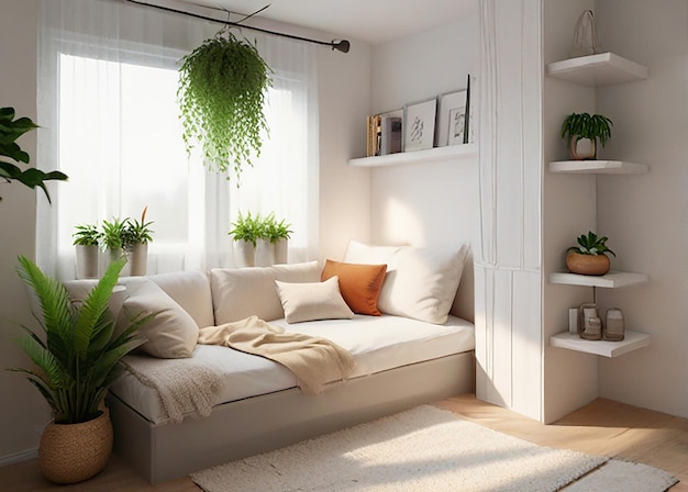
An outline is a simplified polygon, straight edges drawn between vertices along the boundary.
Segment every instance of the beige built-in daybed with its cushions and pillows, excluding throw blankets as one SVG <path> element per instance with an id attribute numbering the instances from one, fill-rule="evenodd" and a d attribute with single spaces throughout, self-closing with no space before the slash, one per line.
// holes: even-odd
<path id="1" fill-rule="evenodd" d="M 474 325 L 450 312 L 466 256 L 466 246 L 352 242 L 342 261 L 121 279 L 125 292 L 111 305 L 119 322 L 138 312 L 156 315 L 143 331 L 148 342 L 125 358 L 131 371 L 107 399 L 115 452 L 157 483 L 471 392 Z M 75 297 L 88 287 L 68 284 Z M 334 342 L 353 356 L 353 372 L 320 394 L 304 394 L 280 364 L 197 344 L 199 329 L 251 316 Z M 203 396 L 209 401 L 175 415 L 145 372 L 156 367 L 166 374 L 169 367 L 169 379 L 176 379 L 185 364 L 210 368 L 220 379 Z"/>

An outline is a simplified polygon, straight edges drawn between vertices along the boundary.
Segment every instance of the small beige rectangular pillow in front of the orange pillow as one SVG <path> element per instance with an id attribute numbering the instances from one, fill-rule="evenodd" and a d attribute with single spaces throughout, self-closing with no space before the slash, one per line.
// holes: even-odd
<path id="1" fill-rule="evenodd" d="M 354 317 L 342 298 L 336 276 L 324 282 L 287 283 L 275 280 L 275 284 L 287 323 Z"/>

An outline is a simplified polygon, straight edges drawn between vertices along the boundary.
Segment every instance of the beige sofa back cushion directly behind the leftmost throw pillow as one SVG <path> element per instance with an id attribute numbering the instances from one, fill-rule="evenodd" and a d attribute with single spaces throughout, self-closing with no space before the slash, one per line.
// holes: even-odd
<path id="1" fill-rule="evenodd" d="M 191 315 L 199 328 L 213 326 L 212 295 L 207 271 L 186 270 L 148 277 Z"/>

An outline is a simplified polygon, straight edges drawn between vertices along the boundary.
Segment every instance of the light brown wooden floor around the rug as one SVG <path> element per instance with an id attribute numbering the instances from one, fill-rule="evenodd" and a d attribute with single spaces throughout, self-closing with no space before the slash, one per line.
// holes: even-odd
<path id="1" fill-rule="evenodd" d="M 672 492 L 688 492 L 688 420 L 599 399 L 559 422 L 543 425 L 499 406 L 456 396 L 436 406 L 495 431 L 541 446 L 574 449 L 642 462 L 668 471 L 681 483 Z M 12 492 L 198 492 L 188 478 L 151 485 L 118 457 L 96 478 L 75 485 L 53 485 L 38 470 L 36 460 L 0 468 L 0 490 Z"/>

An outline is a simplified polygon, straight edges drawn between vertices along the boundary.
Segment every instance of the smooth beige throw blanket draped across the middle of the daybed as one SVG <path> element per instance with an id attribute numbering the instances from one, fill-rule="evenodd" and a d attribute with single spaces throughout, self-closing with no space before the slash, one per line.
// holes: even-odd
<path id="1" fill-rule="evenodd" d="M 224 345 L 279 362 L 293 372 L 306 394 L 318 394 L 325 383 L 347 379 L 354 368 L 352 355 L 339 345 L 325 338 L 287 333 L 257 316 L 201 328 L 198 343 Z"/>

